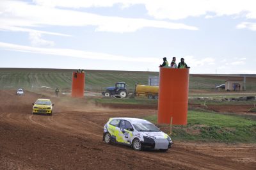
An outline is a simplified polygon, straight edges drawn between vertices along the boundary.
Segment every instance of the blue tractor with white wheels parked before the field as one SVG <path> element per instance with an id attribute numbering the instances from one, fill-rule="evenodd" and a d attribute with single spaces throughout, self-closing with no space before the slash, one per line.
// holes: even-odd
<path id="1" fill-rule="evenodd" d="M 119 95 L 122 98 L 127 97 L 128 93 L 125 86 L 125 82 L 116 82 L 115 87 L 106 88 L 106 91 L 103 91 L 102 95 L 104 95 L 104 97 L 111 97 L 114 95 Z"/>

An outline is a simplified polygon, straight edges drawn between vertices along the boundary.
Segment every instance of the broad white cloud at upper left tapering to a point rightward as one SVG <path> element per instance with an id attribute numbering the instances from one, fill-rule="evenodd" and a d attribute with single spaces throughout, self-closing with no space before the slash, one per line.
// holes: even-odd
<path id="1" fill-rule="evenodd" d="M 62 1 L 54 2 L 62 4 Z M 68 4 L 70 4 L 70 2 L 72 1 L 69 1 Z M 47 1 L 45 1 L 45 3 L 47 3 Z M 65 3 L 63 2 L 63 4 Z M 197 30 L 194 26 L 187 26 L 182 23 L 123 17 L 106 17 L 93 13 L 77 12 L 70 9 L 63 10 L 52 8 L 51 5 L 41 6 L 29 4 L 22 1 L 1 0 L 0 12 L 0 27 L 95 26 L 96 31 L 117 33 L 133 32 L 142 29 L 143 27 Z"/>

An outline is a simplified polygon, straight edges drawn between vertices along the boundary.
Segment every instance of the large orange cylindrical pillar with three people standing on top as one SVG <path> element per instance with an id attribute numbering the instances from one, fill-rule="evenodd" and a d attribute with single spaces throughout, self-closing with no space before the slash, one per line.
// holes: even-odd
<path id="1" fill-rule="evenodd" d="M 188 114 L 189 69 L 160 68 L 158 123 L 186 125 Z"/>

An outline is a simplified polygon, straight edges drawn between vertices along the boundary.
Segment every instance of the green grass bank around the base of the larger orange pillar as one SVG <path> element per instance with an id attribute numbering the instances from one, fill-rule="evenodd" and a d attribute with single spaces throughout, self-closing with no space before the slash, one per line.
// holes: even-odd
<path id="1" fill-rule="evenodd" d="M 157 115 L 145 119 L 157 123 Z M 159 125 L 168 132 L 167 125 Z M 256 143 L 256 121 L 250 118 L 208 111 L 189 111 L 188 125 L 173 126 L 174 141 Z"/>

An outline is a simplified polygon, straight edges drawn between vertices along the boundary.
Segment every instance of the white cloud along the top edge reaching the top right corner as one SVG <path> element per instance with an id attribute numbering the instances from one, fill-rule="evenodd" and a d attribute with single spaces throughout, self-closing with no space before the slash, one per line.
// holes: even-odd
<path id="1" fill-rule="evenodd" d="M 214 16 L 234 15 L 244 16 L 248 19 L 256 19 L 256 2 L 254 0 L 34 0 L 42 6 L 57 6 L 64 8 L 90 8 L 90 7 L 111 7 L 114 4 L 121 4 L 128 8 L 134 4 L 143 4 L 148 15 L 156 19 L 179 20 L 188 17 L 212 16 L 207 13 L 214 13 Z"/>

